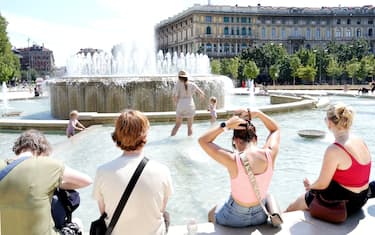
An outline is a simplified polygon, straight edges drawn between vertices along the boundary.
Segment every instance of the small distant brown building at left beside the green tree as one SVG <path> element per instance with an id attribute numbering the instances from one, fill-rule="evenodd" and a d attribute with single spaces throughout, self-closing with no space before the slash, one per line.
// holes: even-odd
<path id="1" fill-rule="evenodd" d="M 17 49 L 21 55 L 21 70 L 34 69 L 40 75 L 48 75 L 54 67 L 53 52 L 44 46 L 33 45 L 31 47 Z"/>

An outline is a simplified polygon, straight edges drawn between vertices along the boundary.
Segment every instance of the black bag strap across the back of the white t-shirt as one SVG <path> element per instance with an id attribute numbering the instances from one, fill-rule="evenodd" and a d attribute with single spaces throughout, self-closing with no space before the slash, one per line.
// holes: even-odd
<path id="1" fill-rule="evenodd" d="M 132 193 L 132 191 L 134 189 L 134 186 L 137 183 L 138 178 L 141 175 L 143 169 L 145 168 L 147 162 L 148 162 L 148 158 L 144 157 L 142 159 L 142 161 L 139 163 L 139 165 L 138 165 L 137 169 L 135 170 L 132 178 L 130 179 L 128 186 L 126 186 L 126 189 L 125 189 L 124 193 L 122 194 L 120 202 L 118 203 L 118 205 L 116 207 L 116 210 L 113 213 L 112 220 L 108 225 L 107 231 L 105 233 L 106 235 L 110 235 L 112 233 L 118 219 L 120 218 L 121 212 L 124 209 L 125 204 L 128 201 L 129 196 Z"/>

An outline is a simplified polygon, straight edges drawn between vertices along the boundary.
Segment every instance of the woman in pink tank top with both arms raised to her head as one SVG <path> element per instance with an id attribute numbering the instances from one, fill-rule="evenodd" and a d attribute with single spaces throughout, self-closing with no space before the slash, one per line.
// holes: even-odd
<path id="1" fill-rule="evenodd" d="M 280 129 L 271 117 L 259 110 L 243 109 L 236 113 L 239 116 L 233 116 L 203 134 L 199 138 L 199 144 L 212 159 L 228 170 L 231 182 L 229 199 L 223 206 L 211 209 L 208 221 L 229 227 L 248 227 L 265 223 L 267 215 L 255 195 L 241 158 L 248 158 L 264 200 L 279 151 Z M 259 118 L 269 131 L 263 147 L 257 146 L 258 137 L 251 122 L 252 117 Z M 226 129 L 233 129 L 234 152 L 214 143 Z"/>

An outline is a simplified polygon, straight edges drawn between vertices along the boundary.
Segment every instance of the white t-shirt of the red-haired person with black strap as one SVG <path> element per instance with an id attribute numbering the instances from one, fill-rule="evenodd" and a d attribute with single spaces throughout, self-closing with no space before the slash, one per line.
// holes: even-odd
<path id="1" fill-rule="evenodd" d="M 120 198 L 143 154 L 120 156 L 97 169 L 93 197 L 103 200 L 109 225 Z M 150 160 L 139 177 L 112 232 L 113 235 L 165 234 L 164 200 L 173 192 L 169 169 Z"/>

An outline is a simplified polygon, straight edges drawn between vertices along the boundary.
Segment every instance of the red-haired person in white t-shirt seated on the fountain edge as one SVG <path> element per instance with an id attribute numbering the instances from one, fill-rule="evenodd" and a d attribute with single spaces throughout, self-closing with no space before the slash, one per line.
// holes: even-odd
<path id="1" fill-rule="evenodd" d="M 150 123 L 136 110 L 125 110 L 115 123 L 112 139 L 123 152 L 96 171 L 93 197 L 107 226 L 138 164 L 145 157 L 144 146 Z M 162 235 L 169 224 L 166 206 L 173 191 L 169 169 L 148 161 L 112 232 L 117 234 Z"/>

